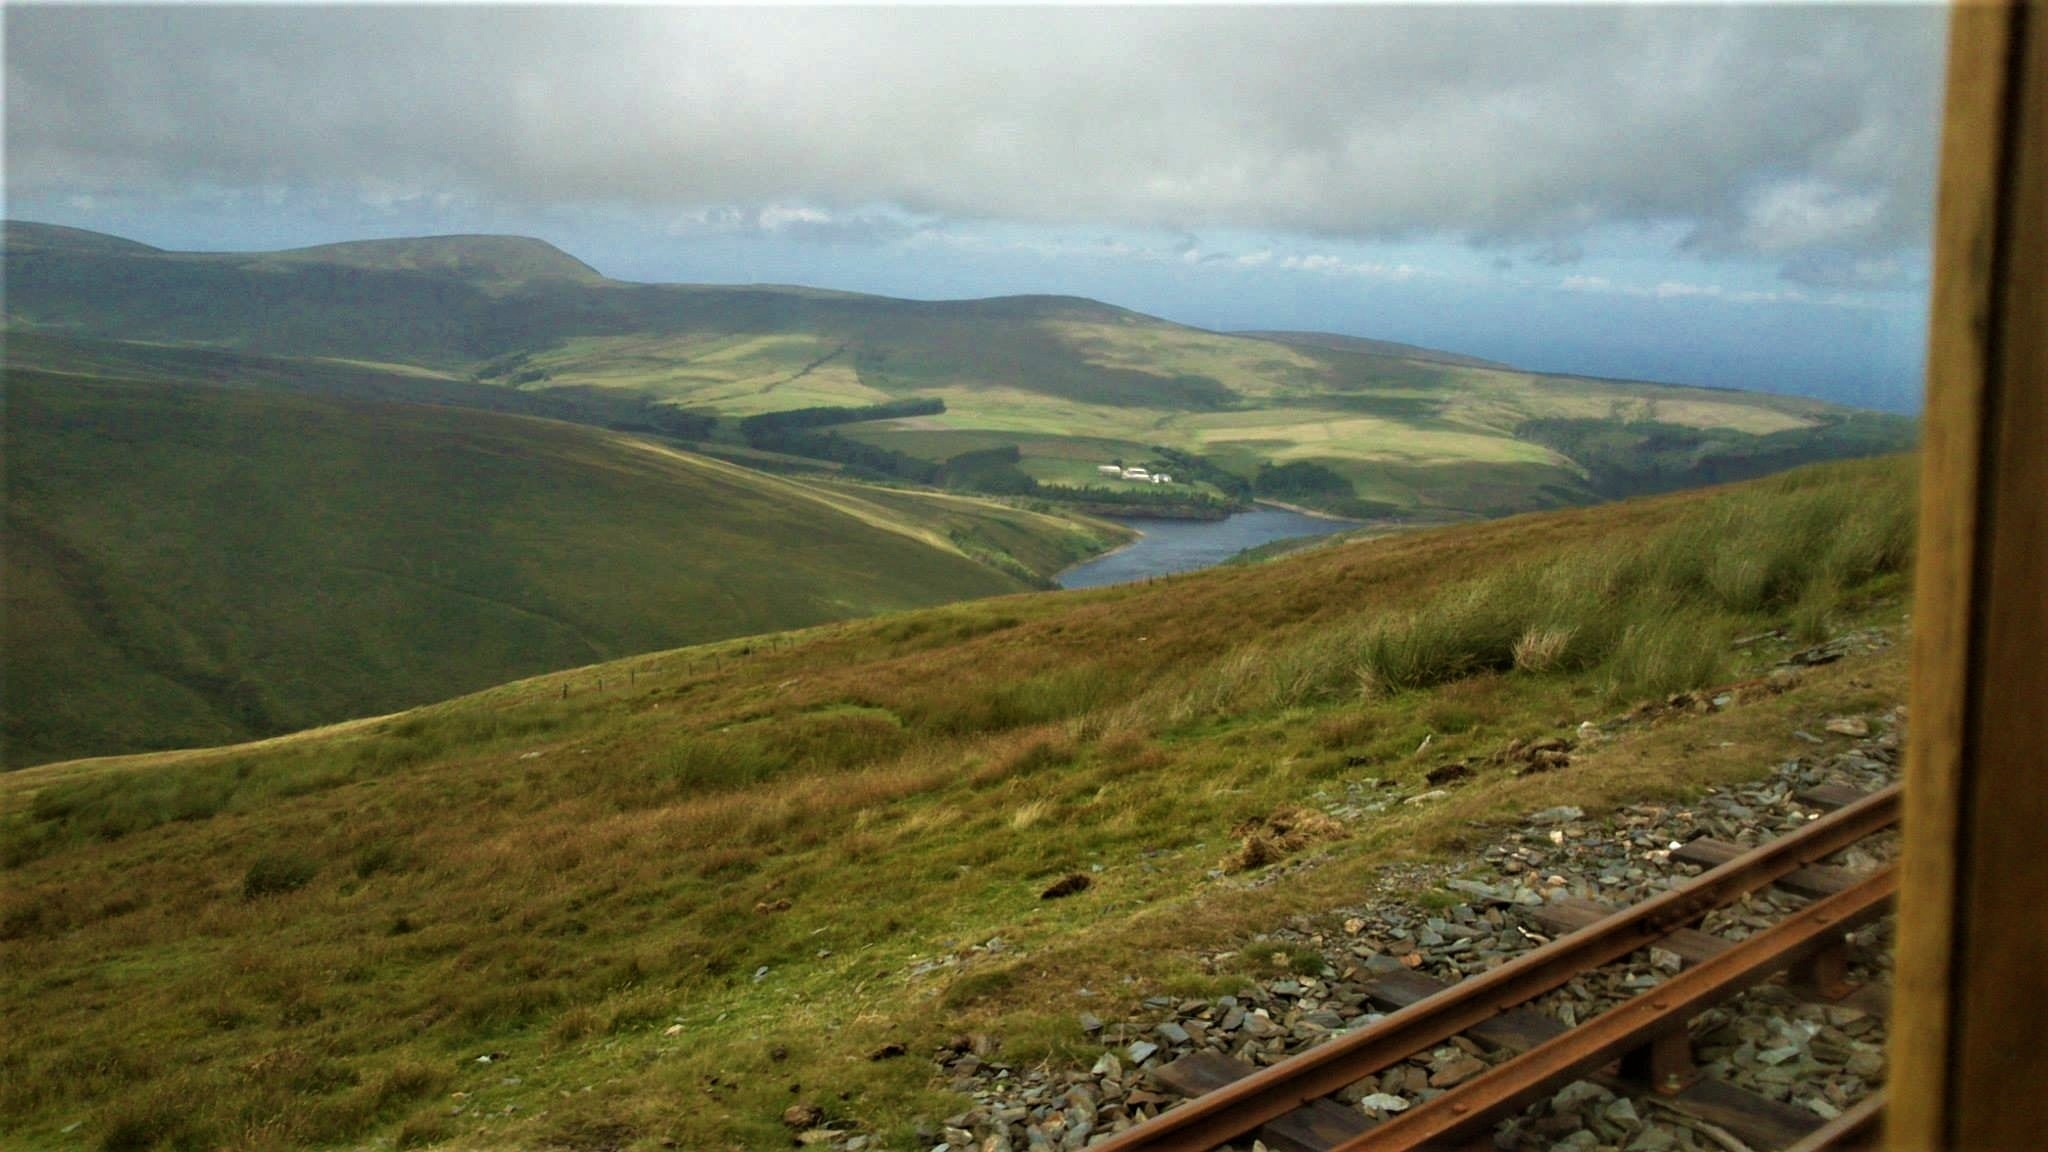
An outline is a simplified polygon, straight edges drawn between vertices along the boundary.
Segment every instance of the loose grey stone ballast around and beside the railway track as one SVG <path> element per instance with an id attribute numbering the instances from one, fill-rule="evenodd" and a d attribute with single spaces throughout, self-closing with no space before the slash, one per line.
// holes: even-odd
<path id="1" fill-rule="evenodd" d="M 1098 1144 L 1178 1103 L 1151 1072 L 1182 1056 L 1217 1052 L 1255 1066 L 1276 1064 L 1337 1031 L 1378 1019 L 1364 992 L 1376 976 L 1413 970 L 1456 982 L 1546 943 L 1550 937 L 1536 912 L 1554 900 L 1640 902 L 1702 871 L 1673 859 L 1686 840 L 1712 836 L 1757 845 L 1819 814 L 1796 799 L 1806 789 L 1841 785 L 1872 791 L 1892 783 L 1898 775 L 1898 709 L 1878 717 L 1839 717 L 1819 736 L 1796 734 L 1812 744 L 1808 754 L 1778 765 L 1757 783 L 1710 791 L 1696 804 L 1638 804 L 1599 818 L 1577 808 L 1552 808 L 1497 832 L 1491 845 L 1462 861 L 1389 867 L 1370 900 L 1315 918 L 1300 916 L 1284 931 L 1247 941 L 1280 943 L 1296 957 L 1274 978 L 1251 980 L 1217 1000 L 1151 998 L 1137 1019 L 1102 1021 L 1083 1013 L 1081 1029 L 1102 1045 L 1090 1066 L 1010 1066 L 985 1039 L 979 1050 L 975 1043 L 940 1050 L 934 1060 L 942 1076 L 975 1105 L 920 1132 L 920 1148 L 1022 1152 Z M 1862 871 L 1892 851 L 1890 838 L 1866 840 L 1833 863 Z M 1444 892 L 1458 902 L 1446 906 L 1442 896 L 1419 900 Z M 1794 904 L 1778 890 L 1763 890 L 1712 914 L 1702 929 L 1741 939 Z M 1888 986 L 1888 931 L 1886 918 L 1860 933 L 1858 955 L 1866 957 L 1866 968 L 1851 970 L 1851 978 Z M 1303 963 L 1307 955 L 1321 955 L 1321 970 L 1313 961 Z M 1212 959 L 1225 963 L 1231 953 Z M 1655 986 L 1677 968 L 1679 957 L 1645 949 L 1626 963 L 1575 978 L 1534 1006 L 1575 1025 Z M 1884 1076 L 1880 1015 L 1858 1006 L 1806 1004 L 1776 986 L 1710 1011 L 1694 1023 L 1692 1035 L 1696 1058 L 1712 1076 L 1817 1117 L 1837 1115 Z M 1456 1037 L 1352 1084 L 1337 1099 L 1368 1117 L 1384 1117 L 1477 1076 L 1489 1060 L 1497 1056 Z M 868 1146 L 866 1138 L 852 1134 L 827 1140 L 838 1148 Z M 1245 1138 L 1243 1148 L 1251 1146 Z M 1655 1097 L 1616 1097 L 1591 1082 L 1571 1084 L 1503 1123 L 1495 1146 L 1573 1152 L 1745 1148 L 1710 1123 L 1661 1107 Z"/>

